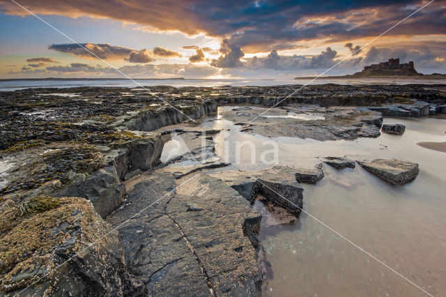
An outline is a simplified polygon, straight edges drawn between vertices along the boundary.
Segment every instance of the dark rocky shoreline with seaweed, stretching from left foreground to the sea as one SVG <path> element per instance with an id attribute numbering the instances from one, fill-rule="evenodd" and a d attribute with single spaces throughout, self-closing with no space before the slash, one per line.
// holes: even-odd
<path id="1" fill-rule="evenodd" d="M 249 202 L 263 195 L 298 216 L 299 183 L 315 183 L 322 169 L 206 172 L 229 164 L 215 155 L 212 137 L 201 139 L 194 120 L 218 106 L 245 105 L 222 112 L 222 118 L 252 135 L 334 141 L 378 137 L 383 116 L 446 114 L 444 85 L 327 84 L 286 98 L 295 88 L 0 93 L 0 161 L 7 168 L 0 174 L 0 292 L 257 296 L 261 215 Z M 172 130 L 190 148 L 170 160 L 180 166 L 160 162 Z M 220 131 L 206 132 L 209 137 Z M 355 167 L 339 157 L 326 161 Z M 396 184 L 418 174 L 415 165 L 380 165 L 410 167 L 394 181 L 380 173 Z"/>

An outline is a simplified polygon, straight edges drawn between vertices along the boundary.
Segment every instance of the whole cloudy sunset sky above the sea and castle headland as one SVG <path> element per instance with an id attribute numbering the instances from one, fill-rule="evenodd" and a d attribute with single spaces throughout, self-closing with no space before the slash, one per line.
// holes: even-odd
<path id="1" fill-rule="evenodd" d="M 292 79 L 389 58 L 446 73 L 446 1 L 394 26 L 426 3 L 0 0 L 0 78 Z"/>

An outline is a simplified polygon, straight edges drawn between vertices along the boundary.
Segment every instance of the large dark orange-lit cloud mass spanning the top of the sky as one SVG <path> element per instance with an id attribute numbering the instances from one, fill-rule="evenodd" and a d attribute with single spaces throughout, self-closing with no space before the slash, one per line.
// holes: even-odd
<path id="1" fill-rule="evenodd" d="M 420 8 L 426 1 L 56 1 L 22 0 L 23 6 L 40 14 L 68 17 L 103 17 L 139 24 L 158 31 L 228 38 L 245 52 L 297 48 L 310 40 L 348 42 L 384 32 Z M 386 36 L 446 34 L 444 1 L 435 1 Z M 26 11 L 0 0 L 8 14 Z M 197 49 L 194 49 L 197 50 Z"/>

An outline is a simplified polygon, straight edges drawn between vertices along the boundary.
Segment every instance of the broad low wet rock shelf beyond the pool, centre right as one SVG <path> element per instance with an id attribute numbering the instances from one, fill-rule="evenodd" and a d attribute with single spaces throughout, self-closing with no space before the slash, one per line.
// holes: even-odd
<path id="1" fill-rule="evenodd" d="M 383 116 L 369 109 L 319 107 L 312 112 L 302 107 L 286 109 L 275 109 L 274 112 L 268 110 L 268 116 L 263 116 L 267 111 L 264 108 L 249 109 L 247 112 L 231 110 L 221 114 L 224 119 L 244 124 L 241 132 L 266 137 L 300 137 L 325 141 L 380 136 Z M 321 114 L 324 119 L 320 118 Z"/>

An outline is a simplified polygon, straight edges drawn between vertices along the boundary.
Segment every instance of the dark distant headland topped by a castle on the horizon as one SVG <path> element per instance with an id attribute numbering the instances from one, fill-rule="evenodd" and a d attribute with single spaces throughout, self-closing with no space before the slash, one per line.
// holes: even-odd
<path id="1" fill-rule="evenodd" d="M 353 73 L 353 75 L 337 75 L 328 76 L 324 78 L 330 79 L 355 79 L 355 78 L 411 78 L 411 79 L 446 79 L 446 75 L 440 73 L 433 73 L 431 75 L 424 75 L 415 70 L 413 61 L 408 63 L 399 63 L 399 58 L 390 58 L 387 62 L 380 62 L 378 64 L 371 64 L 364 66 L 360 72 Z M 310 78 L 310 77 L 295 77 L 295 79 Z"/>

